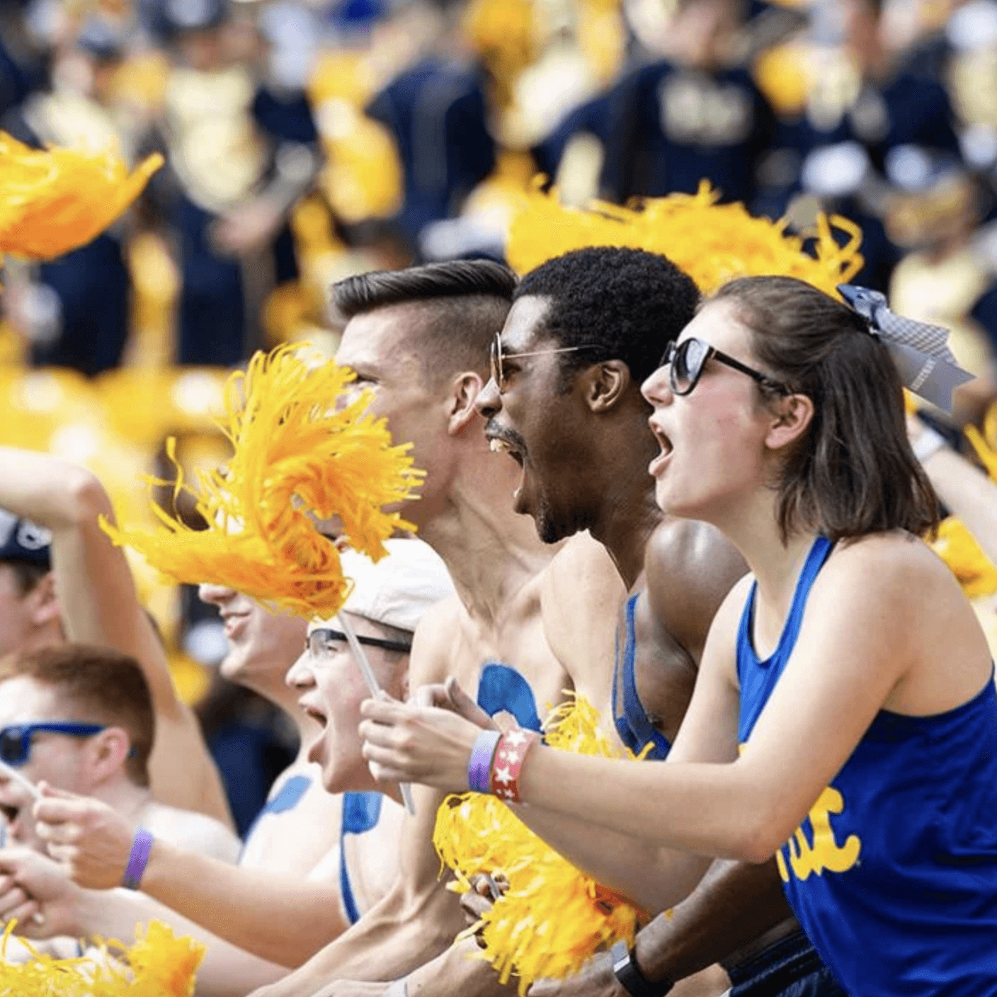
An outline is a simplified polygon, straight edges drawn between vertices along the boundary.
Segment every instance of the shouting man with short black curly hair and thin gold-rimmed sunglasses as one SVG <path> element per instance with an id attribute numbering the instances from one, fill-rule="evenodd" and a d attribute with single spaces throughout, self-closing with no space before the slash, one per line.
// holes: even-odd
<path id="1" fill-rule="evenodd" d="M 680 331 L 665 329 L 660 305 L 642 291 L 658 282 L 671 288 L 672 308 L 691 318 L 698 292 L 663 256 L 590 248 L 537 267 L 516 289 L 478 399 L 487 435 L 521 468 L 516 509 L 547 541 L 589 529 L 629 590 L 613 721 L 634 751 L 650 743 L 651 759 L 668 755 L 688 706 L 706 633 L 701 617 L 712 618 L 715 593 L 726 594 L 745 569 L 713 527 L 669 519 L 654 500 L 647 468 L 659 447 L 640 385 Z M 703 380 L 709 375 L 708 364 Z M 535 830 L 569 858 L 585 832 L 546 819 Z M 638 934 L 633 951 L 617 946 L 574 979 L 533 994 L 649 997 L 717 960 L 736 997 L 841 993 L 790 913 L 775 860 L 718 860 L 672 916 Z"/>

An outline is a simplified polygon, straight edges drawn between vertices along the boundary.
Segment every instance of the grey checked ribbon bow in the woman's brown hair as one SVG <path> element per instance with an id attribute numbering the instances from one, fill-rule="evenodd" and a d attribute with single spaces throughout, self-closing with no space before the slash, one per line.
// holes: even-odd
<path id="1" fill-rule="evenodd" d="M 973 375 L 955 362 L 948 330 L 894 315 L 878 291 L 854 284 L 838 284 L 837 289 L 889 350 L 903 384 L 926 402 L 951 412 L 952 392 L 972 381 Z"/>

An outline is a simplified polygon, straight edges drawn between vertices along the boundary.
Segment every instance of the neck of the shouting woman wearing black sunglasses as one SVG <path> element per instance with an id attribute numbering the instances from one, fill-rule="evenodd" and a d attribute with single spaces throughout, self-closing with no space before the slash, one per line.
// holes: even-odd
<path id="1" fill-rule="evenodd" d="M 711 517 L 711 521 L 741 551 L 758 581 L 759 595 L 765 603 L 780 612 L 788 612 L 816 533 L 797 531 L 784 542 L 776 518 L 776 496 L 768 488 L 756 493 L 747 514 L 742 505 L 737 518 L 717 516 Z"/>

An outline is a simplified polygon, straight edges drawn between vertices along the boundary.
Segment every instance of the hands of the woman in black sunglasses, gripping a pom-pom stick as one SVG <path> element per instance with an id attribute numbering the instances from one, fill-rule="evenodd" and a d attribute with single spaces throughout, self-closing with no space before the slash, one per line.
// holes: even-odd
<path id="1" fill-rule="evenodd" d="M 456 679 L 425 686 L 410 703 L 368 699 L 360 708 L 363 754 L 379 782 L 423 783 L 461 793 L 468 789 L 468 763 L 492 718 Z"/>

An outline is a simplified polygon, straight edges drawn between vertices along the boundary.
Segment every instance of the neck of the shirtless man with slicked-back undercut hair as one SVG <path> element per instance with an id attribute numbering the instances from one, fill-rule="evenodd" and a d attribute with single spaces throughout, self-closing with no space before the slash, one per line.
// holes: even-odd
<path id="1" fill-rule="evenodd" d="M 556 549 L 540 542 L 529 516 L 512 511 L 518 480 L 508 458 L 488 450 L 474 454 L 419 534 L 444 559 L 468 612 L 485 621 L 498 617 Z"/>

